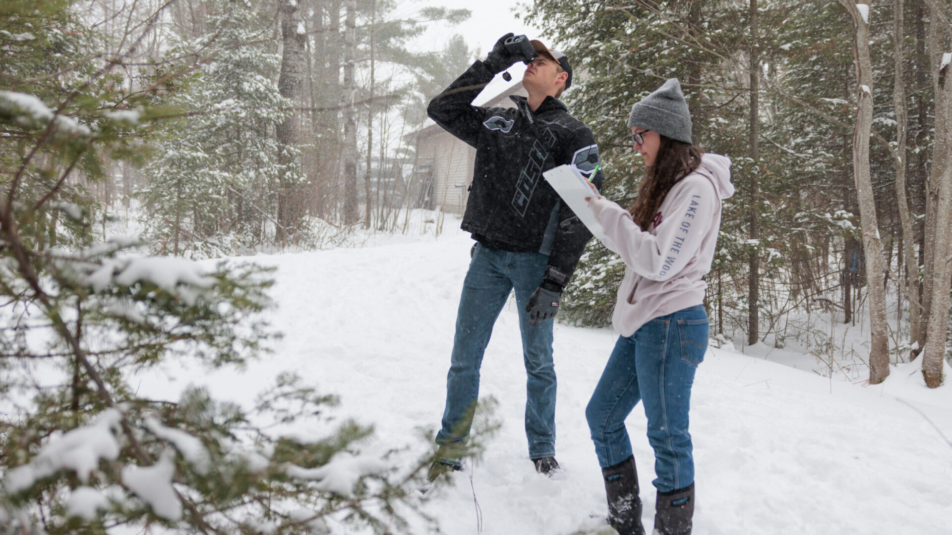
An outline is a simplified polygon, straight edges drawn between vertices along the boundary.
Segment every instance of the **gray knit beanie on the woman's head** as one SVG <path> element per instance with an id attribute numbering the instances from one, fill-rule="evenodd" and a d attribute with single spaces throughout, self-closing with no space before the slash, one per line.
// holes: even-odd
<path id="1" fill-rule="evenodd" d="M 684 143 L 691 143 L 691 112 L 677 78 L 636 102 L 628 115 L 628 128 L 642 127 Z"/>

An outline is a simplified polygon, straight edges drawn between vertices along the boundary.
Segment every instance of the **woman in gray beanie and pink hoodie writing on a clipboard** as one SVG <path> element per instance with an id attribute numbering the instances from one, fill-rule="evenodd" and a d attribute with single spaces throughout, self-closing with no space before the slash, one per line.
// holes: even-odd
<path id="1" fill-rule="evenodd" d="M 730 160 L 691 145 L 691 116 L 676 78 L 631 108 L 634 148 L 645 179 L 629 209 L 601 195 L 588 207 L 602 242 L 625 261 L 612 324 L 621 336 L 585 417 L 605 478 L 608 521 L 644 534 L 638 473 L 625 417 L 643 401 L 655 452 L 655 534 L 686 535 L 694 512 L 694 463 L 687 412 L 695 369 L 707 349 L 704 275 L 721 226 L 721 200 L 734 193 Z"/>

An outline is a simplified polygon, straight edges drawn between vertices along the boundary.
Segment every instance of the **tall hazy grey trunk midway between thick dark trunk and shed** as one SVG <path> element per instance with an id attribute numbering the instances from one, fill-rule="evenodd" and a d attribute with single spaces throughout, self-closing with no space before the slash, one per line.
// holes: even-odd
<path id="1" fill-rule="evenodd" d="M 347 19 L 344 23 L 344 223 L 353 225 L 357 213 L 357 119 L 354 112 L 354 62 L 357 60 L 357 0 L 344 3 Z"/>

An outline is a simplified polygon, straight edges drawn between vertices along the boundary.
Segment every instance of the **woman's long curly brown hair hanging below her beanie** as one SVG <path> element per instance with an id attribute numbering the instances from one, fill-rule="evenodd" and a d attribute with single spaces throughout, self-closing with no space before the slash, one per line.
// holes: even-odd
<path id="1" fill-rule="evenodd" d="M 628 208 L 632 219 L 643 230 L 650 230 L 667 192 L 701 165 L 701 149 L 667 136 L 661 136 L 653 166 L 645 169 L 638 196 Z"/>

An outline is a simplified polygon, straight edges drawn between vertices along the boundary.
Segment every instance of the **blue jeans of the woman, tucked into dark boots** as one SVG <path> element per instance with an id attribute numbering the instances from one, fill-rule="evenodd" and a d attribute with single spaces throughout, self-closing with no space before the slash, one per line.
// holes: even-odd
<path id="1" fill-rule="evenodd" d="M 632 454 L 625 418 L 643 401 L 658 476 L 652 484 L 669 492 L 694 483 L 687 412 L 694 372 L 707 350 L 707 327 L 707 314 L 698 305 L 655 318 L 631 336 L 619 337 L 585 407 L 603 468 Z"/>

